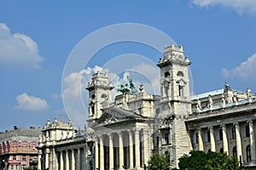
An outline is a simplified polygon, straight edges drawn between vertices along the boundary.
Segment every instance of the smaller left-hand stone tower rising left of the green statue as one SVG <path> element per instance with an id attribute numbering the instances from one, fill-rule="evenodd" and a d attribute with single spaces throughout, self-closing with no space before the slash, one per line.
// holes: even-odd
<path id="1" fill-rule="evenodd" d="M 112 102 L 111 90 L 113 85 L 108 82 L 108 73 L 97 71 L 93 74 L 86 88 L 89 91 L 89 116 L 88 127 L 102 116 L 102 108 L 108 107 Z"/>

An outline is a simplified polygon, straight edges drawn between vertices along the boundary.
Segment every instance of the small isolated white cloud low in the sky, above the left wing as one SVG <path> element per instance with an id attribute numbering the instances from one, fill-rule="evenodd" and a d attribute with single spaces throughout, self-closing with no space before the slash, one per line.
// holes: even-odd
<path id="1" fill-rule="evenodd" d="M 49 108 L 49 105 L 44 99 L 38 97 L 29 96 L 26 93 L 20 94 L 16 97 L 18 105 L 15 106 L 16 109 L 24 111 L 44 111 Z"/>

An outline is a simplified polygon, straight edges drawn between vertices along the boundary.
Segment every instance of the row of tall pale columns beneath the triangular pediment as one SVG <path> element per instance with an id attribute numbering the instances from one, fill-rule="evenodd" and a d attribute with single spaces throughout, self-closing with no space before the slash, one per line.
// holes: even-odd
<path id="1" fill-rule="evenodd" d="M 148 130 L 134 128 L 96 136 L 96 169 L 141 169 L 148 162 L 148 134 Z"/>

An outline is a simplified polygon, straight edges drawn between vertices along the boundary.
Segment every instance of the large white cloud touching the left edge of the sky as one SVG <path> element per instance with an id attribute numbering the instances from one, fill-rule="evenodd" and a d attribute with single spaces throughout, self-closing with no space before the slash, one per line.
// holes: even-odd
<path id="1" fill-rule="evenodd" d="M 31 37 L 11 33 L 8 26 L 0 23 L 0 65 L 37 69 L 43 58 L 38 54 L 38 44 Z"/>

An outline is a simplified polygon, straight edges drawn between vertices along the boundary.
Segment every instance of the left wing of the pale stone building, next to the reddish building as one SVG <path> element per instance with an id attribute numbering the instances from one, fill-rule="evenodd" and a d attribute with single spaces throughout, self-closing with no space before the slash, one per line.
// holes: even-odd
<path id="1" fill-rule="evenodd" d="M 85 162 L 85 148 L 84 131 L 76 130 L 71 120 L 62 122 L 55 117 L 54 122 L 48 120 L 39 136 L 38 168 L 84 169 L 89 166 Z"/>

